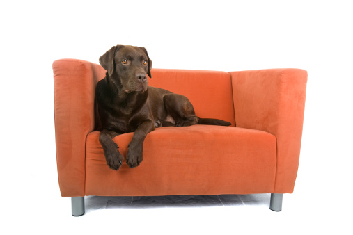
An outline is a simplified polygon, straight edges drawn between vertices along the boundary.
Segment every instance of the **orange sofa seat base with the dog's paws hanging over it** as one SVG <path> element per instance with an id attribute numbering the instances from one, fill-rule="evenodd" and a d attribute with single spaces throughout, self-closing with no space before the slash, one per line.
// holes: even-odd
<path id="1" fill-rule="evenodd" d="M 111 170 L 98 140 L 86 139 L 86 195 L 214 195 L 272 193 L 276 138 L 265 131 L 194 125 L 148 133 L 141 165 Z M 124 156 L 133 133 L 116 136 Z"/>

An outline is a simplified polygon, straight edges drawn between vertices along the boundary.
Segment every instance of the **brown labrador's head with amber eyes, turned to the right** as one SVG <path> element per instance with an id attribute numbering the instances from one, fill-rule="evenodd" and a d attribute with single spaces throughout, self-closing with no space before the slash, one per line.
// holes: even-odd
<path id="1" fill-rule="evenodd" d="M 124 92 L 145 92 L 151 77 L 152 60 L 144 47 L 117 45 L 100 56 L 100 65 L 113 83 Z"/>

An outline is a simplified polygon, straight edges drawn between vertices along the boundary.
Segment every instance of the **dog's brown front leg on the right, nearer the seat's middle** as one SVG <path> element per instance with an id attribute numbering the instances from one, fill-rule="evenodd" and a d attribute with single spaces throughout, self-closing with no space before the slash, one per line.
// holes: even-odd
<path id="1" fill-rule="evenodd" d="M 145 140 L 147 134 L 154 129 L 155 122 L 152 120 L 145 120 L 137 127 L 126 155 L 126 163 L 130 168 L 140 165 L 142 161 L 143 140 Z"/>

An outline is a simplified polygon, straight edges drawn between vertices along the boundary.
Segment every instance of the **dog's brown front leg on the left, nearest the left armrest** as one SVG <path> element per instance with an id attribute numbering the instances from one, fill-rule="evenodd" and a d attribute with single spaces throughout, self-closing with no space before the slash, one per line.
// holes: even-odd
<path id="1" fill-rule="evenodd" d="M 118 170 L 123 163 L 124 157 L 120 154 L 118 145 L 113 141 L 115 136 L 118 136 L 118 133 L 104 129 L 100 133 L 100 144 L 103 147 L 104 156 L 109 168 Z"/>

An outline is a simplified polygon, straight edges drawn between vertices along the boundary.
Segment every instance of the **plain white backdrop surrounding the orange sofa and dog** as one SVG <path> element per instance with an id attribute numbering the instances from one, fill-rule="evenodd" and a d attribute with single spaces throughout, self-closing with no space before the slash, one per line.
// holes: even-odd
<path id="1" fill-rule="evenodd" d="M 0 230 L 175 232 L 185 225 L 200 232 L 206 221 L 217 232 L 290 233 L 304 226 L 312 232 L 352 232 L 344 215 L 352 211 L 352 10 L 350 1 L 339 0 L 2 1 L 0 202 L 8 227 Z M 71 218 L 56 175 L 52 62 L 98 63 L 116 44 L 146 47 L 157 68 L 307 70 L 301 160 L 285 210 L 274 216 L 245 207 L 241 212 L 248 216 L 242 216 L 230 208 L 214 212 L 217 218 L 205 216 L 207 210 L 196 218 L 190 218 L 194 212 L 174 211 L 185 220 L 164 218 L 143 228 L 127 218 L 136 216 L 134 211 L 117 218 L 107 218 L 107 211 L 97 212 L 102 217 Z M 153 213 L 139 211 L 143 218 L 154 218 Z M 116 225 L 105 227 L 105 220 Z"/>

